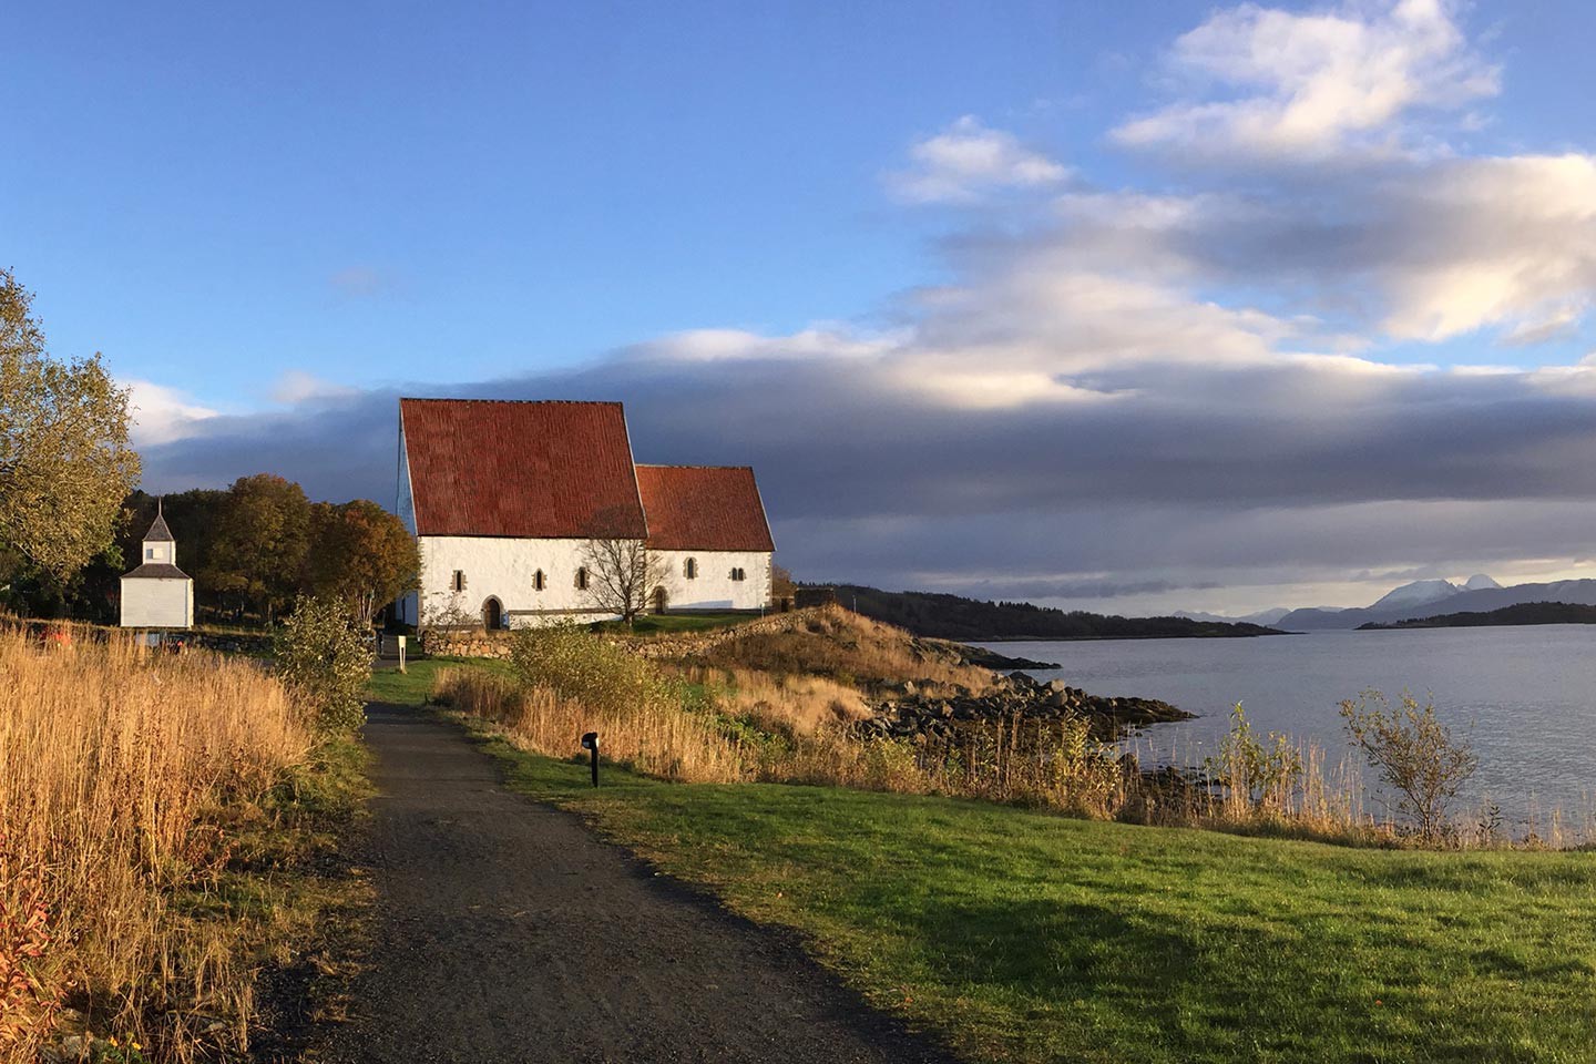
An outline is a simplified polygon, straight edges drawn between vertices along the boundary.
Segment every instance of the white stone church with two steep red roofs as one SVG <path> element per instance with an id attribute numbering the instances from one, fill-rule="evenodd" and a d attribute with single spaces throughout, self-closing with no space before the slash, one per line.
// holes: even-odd
<path id="1" fill-rule="evenodd" d="M 771 603 L 776 542 L 753 469 L 638 466 L 618 402 L 399 400 L 399 517 L 420 627 L 528 627 L 614 617 L 597 603 L 592 541 L 640 541 L 664 576 L 654 613 Z"/>

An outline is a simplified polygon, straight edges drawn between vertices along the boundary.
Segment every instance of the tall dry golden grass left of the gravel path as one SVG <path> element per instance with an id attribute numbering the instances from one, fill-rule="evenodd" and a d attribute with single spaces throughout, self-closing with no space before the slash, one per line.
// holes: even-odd
<path id="1" fill-rule="evenodd" d="M 217 1019 L 207 1040 L 244 1046 L 241 928 L 172 900 L 215 881 L 228 810 L 311 742 L 282 688 L 247 662 L 0 632 L 0 903 L 13 916 L 8 943 L 0 914 L 0 981 L 24 987 L 10 1037 L 0 1024 L 0 1061 L 32 1059 L 59 1003 L 150 1059 L 190 1058 L 195 1027 Z M 19 948 L 16 917 L 30 911 L 45 938 Z"/>

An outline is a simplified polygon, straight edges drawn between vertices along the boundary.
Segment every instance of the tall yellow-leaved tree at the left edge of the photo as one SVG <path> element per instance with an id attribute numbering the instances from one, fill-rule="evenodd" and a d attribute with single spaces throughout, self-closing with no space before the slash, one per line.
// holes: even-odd
<path id="1" fill-rule="evenodd" d="M 45 351 L 32 294 L 0 270 L 0 549 L 65 582 L 112 546 L 139 480 L 128 389 Z"/>

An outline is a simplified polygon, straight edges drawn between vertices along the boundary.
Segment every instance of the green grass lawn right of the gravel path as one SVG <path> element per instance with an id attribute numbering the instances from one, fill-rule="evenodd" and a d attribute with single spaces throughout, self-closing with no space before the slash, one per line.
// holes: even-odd
<path id="1" fill-rule="evenodd" d="M 1596 1059 L 1596 855 L 1425 853 L 490 748 L 990 1061 Z"/>

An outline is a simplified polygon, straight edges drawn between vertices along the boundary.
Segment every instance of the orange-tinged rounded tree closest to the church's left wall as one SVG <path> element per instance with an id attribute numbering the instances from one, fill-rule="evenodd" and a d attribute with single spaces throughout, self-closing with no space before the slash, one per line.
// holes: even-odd
<path id="1" fill-rule="evenodd" d="M 361 624 L 420 582 L 421 555 L 404 522 L 369 499 L 311 506 L 311 593 L 343 601 Z"/>

